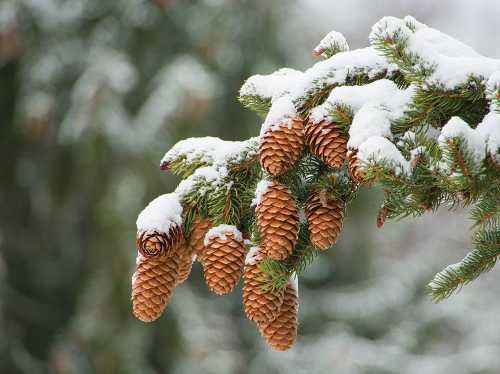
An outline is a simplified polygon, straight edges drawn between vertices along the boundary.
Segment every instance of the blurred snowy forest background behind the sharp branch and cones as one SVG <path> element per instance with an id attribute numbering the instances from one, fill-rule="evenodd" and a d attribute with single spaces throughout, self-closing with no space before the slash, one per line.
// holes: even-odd
<path id="1" fill-rule="evenodd" d="M 0 373 L 499 373 L 498 269 L 438 305 L 423 293 L 467 252 L 466 212 L 378 230 L 373 190 L 301 277 L 289 352 L 199 265 L 157 322 L 131 314 L 136 216 L 179 182 L 164 152 L 257 134 L 248 76 L 407 14 L 500 57 L 496 0 L 0 0 Z"/>

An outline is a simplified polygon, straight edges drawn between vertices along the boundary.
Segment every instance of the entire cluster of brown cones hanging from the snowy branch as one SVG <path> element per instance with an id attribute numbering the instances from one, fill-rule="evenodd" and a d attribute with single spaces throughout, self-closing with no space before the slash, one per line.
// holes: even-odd
<path id="1" fill-rule="evenodd" d="M 276 350 L 289 349 L 298 326 L 298 287 L 293 276 L 282 289 L 266 287 L 261 263 L 266 258 L 285 260 L 299 234 L 299 210 L 290 189 L 278 177 L 302 156 L 305 145 L 332 169 L 346 158 L 346 136 L 335 124 L 295 118 L 267 130 L 261 137 L 259 158 L 269 174 L 255 208 L 260 246 L 248 245 L 234 226 L 212 227 L 209 218 L 197 217 L 189 233 L 179 225 L 169 232 L 137 233 L 137 269 L 132 278 L 134 315 L 145 322 L 157 319 L 165 309 L 175 286 L 183 282 L 196 259 L 203 267 L 210 291 L 231 292 L 243 275 L 245 314 L 257 323 L 266 342 Z M 356 161 L 349 162 L 350 172 Z M 311 192 L 305 204 L 311 245 L 325 250 L 337 241 L 342 229 L 344 205 L 326 190 Z M 248 247 L 251 247 L 248 250 Z"/>

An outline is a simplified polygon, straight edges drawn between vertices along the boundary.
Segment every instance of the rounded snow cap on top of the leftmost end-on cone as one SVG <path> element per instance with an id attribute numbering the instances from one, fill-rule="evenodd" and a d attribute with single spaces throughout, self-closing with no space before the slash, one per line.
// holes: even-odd
<path id="1" fill-rule="evenodd" d="M 173 225 L 182 223 L 182 206 L 176 193 L 158 196 L 137 217 L 137 230 L 157 230 L 167 233 Z"/>

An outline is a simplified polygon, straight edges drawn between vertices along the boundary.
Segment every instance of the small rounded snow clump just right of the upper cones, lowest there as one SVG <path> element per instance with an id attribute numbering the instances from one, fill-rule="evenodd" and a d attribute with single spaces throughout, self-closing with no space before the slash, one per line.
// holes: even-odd
<path id="1" fill-rule="evenodd" d="M 410 164 L 396 146 L 381 136 L 371 136 L 358 148 L 357 157 L 360 161 L 387 163 L 394 168 L 396 175 L 409 174 Z"/>

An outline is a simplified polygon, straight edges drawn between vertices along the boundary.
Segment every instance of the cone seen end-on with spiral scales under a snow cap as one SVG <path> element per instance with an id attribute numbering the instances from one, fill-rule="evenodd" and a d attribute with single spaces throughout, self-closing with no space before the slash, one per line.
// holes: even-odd
<path id="1" fill-rule="evenodd" d="M 144 257 L 171 256 L 183 241 L 179 225 L 173 225 L 168 233 L 146 230 L 138 231 L 136 236 L 137 250 Z"/>

